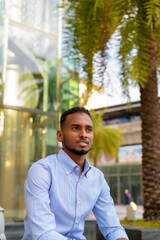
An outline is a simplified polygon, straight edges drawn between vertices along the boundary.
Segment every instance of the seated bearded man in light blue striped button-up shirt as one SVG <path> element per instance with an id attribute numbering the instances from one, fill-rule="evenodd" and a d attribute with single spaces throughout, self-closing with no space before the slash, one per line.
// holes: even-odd
<path id="1" fill-rule="evenodd" d="M 23 240 L 85 240 L 84 222 L 91 211 L 107 240 L 128 239 L 102 172 L 86 159 L 93 143 L 90 113 L 75 107 L 62 114 L 60 123 L 57 139 L 63 148 L 28 172 Z"/>

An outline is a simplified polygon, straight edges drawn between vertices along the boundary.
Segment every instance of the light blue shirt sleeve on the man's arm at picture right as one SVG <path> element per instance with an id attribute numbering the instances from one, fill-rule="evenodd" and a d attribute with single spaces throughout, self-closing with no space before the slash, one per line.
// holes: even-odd
<path id="1" fill-rule="evenodd" d="M 101 193 L 93 208 L 93 213 L 97 219 L 98 227 L 106 240 L 116 240 L 126 238 L 127 234 L 121 226 L 113 199 L 110 195 L 110 188 L 101 173 Z"/>

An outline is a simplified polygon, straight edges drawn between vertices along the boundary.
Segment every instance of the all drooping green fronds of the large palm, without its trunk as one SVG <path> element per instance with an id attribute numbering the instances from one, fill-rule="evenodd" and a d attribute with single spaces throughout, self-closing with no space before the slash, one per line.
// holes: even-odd
<path id="1" fill-rule="evenodd" d="M 124 93 L 129 95 L 130 84 L 145 86 L 150 75 L 149 44 L 153 28 L 160 49 L 159 16 L 159 0 L 68 1 L 65 54 L 74 56 L 80 62 L 89 92 L 93 78 L 94 82 L 103 85 L 107 46 L 115 30 L 119 32 L 119 61 Z"/>

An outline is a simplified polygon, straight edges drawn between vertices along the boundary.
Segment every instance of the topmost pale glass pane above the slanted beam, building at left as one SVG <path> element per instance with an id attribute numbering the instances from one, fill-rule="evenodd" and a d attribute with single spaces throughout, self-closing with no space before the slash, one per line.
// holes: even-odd
<path id="1" fill-rule="evenodd" d="M 9 0 L 9 18 L 57 34 L 57 0 Z"/>

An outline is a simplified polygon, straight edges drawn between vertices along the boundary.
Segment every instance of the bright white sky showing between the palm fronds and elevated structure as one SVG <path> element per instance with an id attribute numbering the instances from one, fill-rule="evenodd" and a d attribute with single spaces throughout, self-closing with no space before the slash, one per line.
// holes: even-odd
<path id="1" fill-rule="evenodd" d="M 94 93 L 89 99 L 86 108 L 95 109 L 101 107 L 110 107 L 127 102 L 127 99 L 122 96 L 122 87 L 120 82 L 120 65 L 118 62 L 118 44 L 116 38 L 113 38 L 108 49 L 107 70 L 104 74 L 104 94 Z M 131 102 L 139 101 L 139 87 L 130 87 Z"/>

